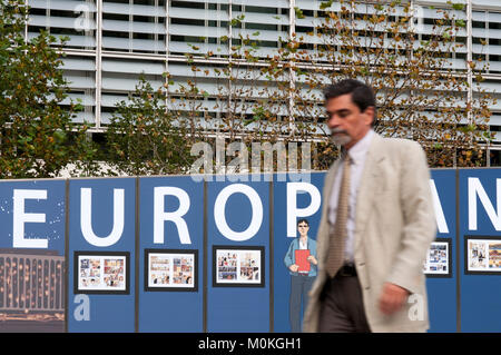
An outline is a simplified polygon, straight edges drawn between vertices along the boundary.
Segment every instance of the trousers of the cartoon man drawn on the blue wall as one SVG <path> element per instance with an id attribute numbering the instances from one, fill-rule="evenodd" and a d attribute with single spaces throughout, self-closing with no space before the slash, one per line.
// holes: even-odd
<path id="1" fill-rule="evenodd" d="M 314 276 L 291 275 L 291 299 L 288 304 L 288 317 L 291 332 L 301 333 L 302 312 L 301 300 L 303 298 L 303 312 L 308 304 L 308 292 L 312 288 Z"/>

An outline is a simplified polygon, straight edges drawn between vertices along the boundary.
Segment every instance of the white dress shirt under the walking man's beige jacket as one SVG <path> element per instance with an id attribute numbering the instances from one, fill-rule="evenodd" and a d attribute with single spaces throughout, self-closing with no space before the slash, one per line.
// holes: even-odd
<path id="1" fill-rule="evenodd" d="M 356 195 L 358 194 L 360 179 L 365 165 L 365 157 L 367 156 L 369 146 L 371 145 L 374 131 L 371 129 L 364 138 L 358 140 L 347 154 L 352 158 L 350 169 L 350 197 L 348 197 L 348 216 L 346 221 L 346 244 L 344 249 L 345 263 L 354 262 L 355 247 L 355 211 L 356 211 Z M 334 187 L 332 189 L 331 198 L 328 200 L 328 221 L 334 226 L 336 221 L 337 200 L 340 196 L 341 178 L 343 176 L 343 165 L 336 171 L 334 178 Z"/>

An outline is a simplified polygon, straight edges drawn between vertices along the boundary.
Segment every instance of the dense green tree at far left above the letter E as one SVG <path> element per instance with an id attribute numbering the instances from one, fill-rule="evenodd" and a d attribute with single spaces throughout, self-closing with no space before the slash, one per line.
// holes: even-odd
<path id="1" fill-rule="evenodd" d="M 68 164 L 92 174 L 87 126 L 72 124 L 78 106 L 62 106 L 67 82 L 51 47 L 57 40 L 45 31 L 28 40 L 26 21 L 23 0 L 0 1 L 0 177 L 55 177 Z"/>

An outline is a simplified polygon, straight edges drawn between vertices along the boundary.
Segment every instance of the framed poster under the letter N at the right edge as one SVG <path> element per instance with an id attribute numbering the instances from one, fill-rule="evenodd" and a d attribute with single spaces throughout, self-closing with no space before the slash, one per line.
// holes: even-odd
<path id="1" fill-rule="evenodd" d="M 464 274 L 501 275 L 500 237 L 464 236 Z"/>

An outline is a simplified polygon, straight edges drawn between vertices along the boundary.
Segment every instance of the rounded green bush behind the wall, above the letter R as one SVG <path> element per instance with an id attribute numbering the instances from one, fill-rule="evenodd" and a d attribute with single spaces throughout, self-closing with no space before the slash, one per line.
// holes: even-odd
<path id="1" fill-rule="evenodd" d="M 126 175 L 186 172 L 193 162 L 186 117 L 168 105 L 168 83 L 154 89 L 141 77 L 129 99 L 117 105 L 108 127 L 109 164 Z M 109 171 L 108 171 L 109 172 Z"/>

